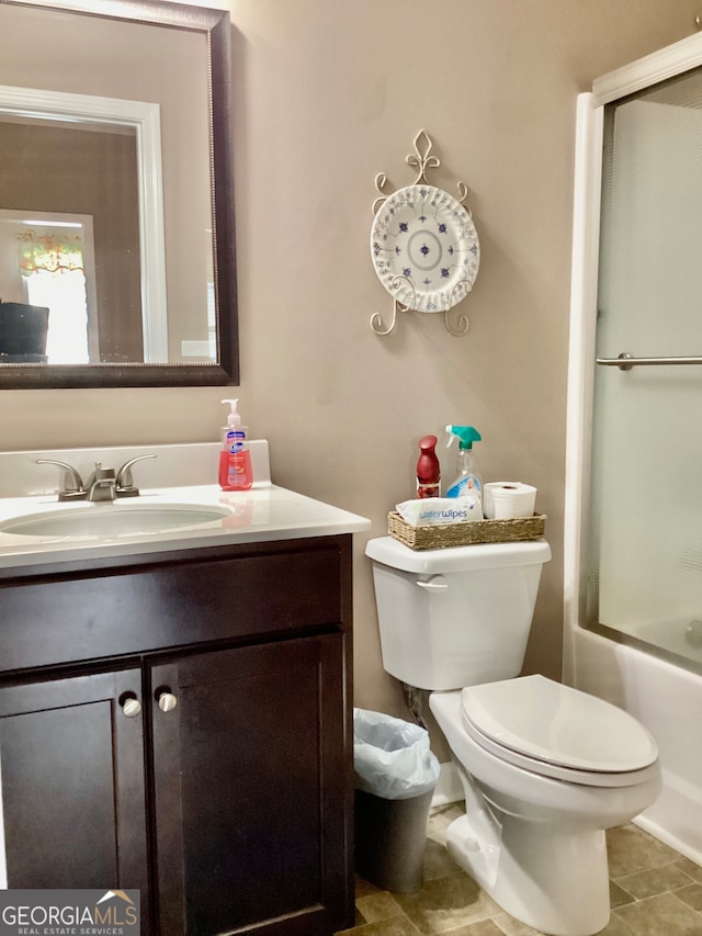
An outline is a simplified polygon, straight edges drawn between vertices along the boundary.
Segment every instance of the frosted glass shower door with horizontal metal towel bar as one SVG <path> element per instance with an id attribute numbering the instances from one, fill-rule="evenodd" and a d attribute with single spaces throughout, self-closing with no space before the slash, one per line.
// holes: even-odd
<path id="1" fill-rule="evenodd" d="M 608 104 L 597 356 L 702 356 L 702 71 Z M 596 371 L 587 621 L 702 665 L 702 358 Z M 612 631 L 618 634 L 612 634 Z"/>

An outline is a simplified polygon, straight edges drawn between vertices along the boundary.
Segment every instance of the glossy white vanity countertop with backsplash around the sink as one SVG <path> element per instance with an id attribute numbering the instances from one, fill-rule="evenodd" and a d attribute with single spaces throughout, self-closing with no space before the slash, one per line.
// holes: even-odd
<path id="1" fill-rule="evenodd" d="M 90 510 L 117 511 L 159 504 L 188 504 L 219 506 L 228 511 L 224 517 L 200 523 L 189 529 L 172 529 L 166 532 L 129 532 L 100 537 L 35 537 L 3 532 L 0 529 L 0 570 L 44 565 L 56 562 L 90 561 L 111 556 L 135 556 L 156 552 L 222 546 L 227 544 L 260 543 L 274 540 L 298 540 L 310 537 L 356 533 L 369 530 L 371 521 L 347 510 L 315 500 L 284 487 L 271 484 L 268 466 L 268 447 L 263 441 L 251 444 L 252 459 L 257 464 L 258 481 L 250 490 L 224 492 L 216 484 L 197 484 L 205 474 L 214 474 L 217 447 L 195 444 L 184 455 L 181 447 L 151 447 L 144 449 L 114 449 L 91 451 L 90 459 L 83 450 L 63 452 L 0 453 L 0 528 L 14 517 L 32 518 L 56 511 Z M 117 465 L 134 453 L 157 452 L 159 459 L 135 465 L 135 482 L 140 494 L 101 504 L 59 504 L 55 483 L 57 469 L 53 465 L 36 465 L 37 456 L 59 458 L 78 465 L 86 476 L 86 463 L 98 455 L 104 464 Z M 162 483 L 163 469 L 177 453 L 178 471 L 170 469 L 163 486 L 146 486 L 157 480 Z M 160 471 L 159 471 L 160 469 Z M 205 476 L 206 476 L 205 474 Z M 12 494 L 19 478 L 23 478 L 22 496 L 7 496 L 10 483 Z M 37 490 L 38 478 L 49 484 Z M 4 482 L 4 487 L 3 487 Z M 170 482 L 170 483 L 169 483 Z M 50 492 L 50 493 L 49 493 Z"/>

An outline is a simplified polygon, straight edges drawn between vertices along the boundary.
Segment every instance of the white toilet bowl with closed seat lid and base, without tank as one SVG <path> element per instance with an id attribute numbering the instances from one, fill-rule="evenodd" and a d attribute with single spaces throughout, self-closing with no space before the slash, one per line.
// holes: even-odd
<path id="1" fill-rule="evenodd" d="M 660 792 L 648 732 L 621 709 L 542 676 L 432 692 L 429 706 L 466 801 L 446 833 L 454 860 L 534 929 L 600 932 L 610 916 L 604 830 Z"/>

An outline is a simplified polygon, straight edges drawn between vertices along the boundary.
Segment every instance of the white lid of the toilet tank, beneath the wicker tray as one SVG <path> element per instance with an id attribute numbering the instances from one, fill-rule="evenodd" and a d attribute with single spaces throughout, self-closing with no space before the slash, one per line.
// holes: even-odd
<path id="1" fill-rule="evenodd" d="M 503 568 L 510 565 L 535 565 L 548 562 L 551 546 L 545 540 L 516 543 L 475 543 L 444 550 L 412 550 L 393 537 L 369 540 L 365 554 L 375 562 L 403 572 L 435 575 L 478 568 Z"/>

